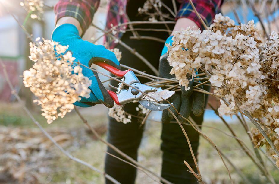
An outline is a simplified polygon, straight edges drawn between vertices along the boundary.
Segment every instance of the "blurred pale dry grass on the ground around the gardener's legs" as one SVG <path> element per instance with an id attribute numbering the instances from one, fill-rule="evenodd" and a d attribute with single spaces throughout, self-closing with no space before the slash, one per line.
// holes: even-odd
<path id="1" fill-rule="evenodd" d="M 89 109 L 82 109 L 82 113 L 85 115 L 86 119 L 91 121 L 91 125 L 98 127 L 99 133 L 103 133 L 104 137 L 104 127 L 107 121 L 107 115 L 105 112 L 106 110 L 101 108 L 100 105 Z M 75 157 L 85 160 L 99 169 L 104 167 L 106 146 L 100 141 L 96 141 L 96 139 L 92 138 L 75 113 L 70 113 L 63 119 L 56 120 L 51 125 L 48 125 L 45 118 L 39 113 L 40 112 L 37 109 L 33 110 L 35 117 L 47 130 L 53 131 L 57 128 L 63 128 L 74 137 L 73 144 L 67 146 L 67 151 Z M 226 127 L 221 123 L 205 122 L 204 125 L 219 128 L 228 133 Z M 8 126 L 10 128 L 22 127 L 25 130 L 34 127 L 33 122 L 31 122 L 31 120 L 25 115 L 17 103 L 0 105 L 0 126 Z M 140 147 L 139 161 L 152 171 L 160 173 L 161 124 L 147 122 L 147 126 Z M 237 135 L 252 148 L 251 142 L 247 138 L 242 127 L 239 126 L 238 122 L 231 124 L 231 126 L 234 128 Z M 245 153 L 238 147 L 237 142 L 233 140 L 233 138 L 212 128 L 203 127 L 202 130 L 228 157 L 230 157 L 234 164 L 243 171 L 252 183 L 267 183 L 264 177 L 260 175 L 259 170 L 257 170 L 252 161 L 246 157 Z M 49 154 L 57 154 L 58 157 L 55 157 L 55 160 L 49 161 L 51 171 L 39 173 L 39 183 L 104 183 L 102 175 L 94 173 L 92 170 L 69 160 L 64 155 L 61 155 L 56 147 L 53 146 L 52 148 L 53 149 L 50 149 Z M 269 164 L 267 168 L 272 169 L 272 175 L 275 180 L 279 182 L 279 176 L 277 175 L 278 171 L 270 165 L 266 160 L 266 157 L 263 158 L 265 163 Z M 206 183 L 230 183 L 227 172 L 217 152 L 203 139 L 201 139 L 201 146 L 199 147 L 198 160 L 203 180 Z M 242 183 L 241 178 L 235 173 L 235 171 L 231 167 L 229 167 L 229 169 L 235 183 Z M 11 181 L 10 183 L 15 182 Z M 144 173 L 139 171 L 136 183 L 151 184 L 154 182 L 146 177 Z"/>

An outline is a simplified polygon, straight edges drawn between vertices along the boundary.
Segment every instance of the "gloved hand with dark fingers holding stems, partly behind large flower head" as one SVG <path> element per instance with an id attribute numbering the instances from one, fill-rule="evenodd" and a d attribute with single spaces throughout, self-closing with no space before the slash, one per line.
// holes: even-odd
<path id="1" fill-rule="evenodd" d="M 172 45 L 172 37 L 168 37 L 165 44 Z M 169 65 L 169 62 L 167 60 L 167 51 L 168 48 L 164 46 L 162 50 L 162 54 L 160 57 L 160 63 L 159 63 L 159 76 L 163 78 L 174 78 L 175 75 L 171 75 L 171 66 Z M 189 76 L 188 79 L 190 79 L 191 76 Z M 177 109 L 177 111 L 184 116 L 185 118 L 188 118 L 190 116 L 191 111 L 193 110 L 193 114 L 195 116 L 201 116 L 204 111 L 204 102 L 205 102 L 205 95 L 204 93 L 193 91 L 193 84 L 194 80 L 189 82 L 189 90 L 185 90 L 185 87 L 181 86 L 181 92 L 177 91 L 175 94 L 168 100 L 171 103 L 173 103 L 173 106 Z M 202 88 L 202 86 L 199 86 Z M 178 114 L 174 110 L 173 107 L 170 107 L 170 110 L 177 116 Z M 180 122 L 186 122 L 185 119 L 183 119 L 180 116 L 177 116 L 178 120 Z M 168 123 L 173 119 L 173 116 L 170 112 L 168 112 L 168 109 L 163 111 L 162 116 L 162 122 Z"/>

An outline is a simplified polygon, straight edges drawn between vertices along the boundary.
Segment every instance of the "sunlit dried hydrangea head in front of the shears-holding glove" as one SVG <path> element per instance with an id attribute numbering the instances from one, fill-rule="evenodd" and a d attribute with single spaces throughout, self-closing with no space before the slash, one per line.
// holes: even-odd
<path id="1" fill-rule="evenodd" d="M 34 102 L 42 107 L 42 115 L 48 123 L 74 109 L 79 96 L 89 97 L 91 80 L 82 74 L 82 68 L 74 63 L 68 46 L 45 40 L 30 43 L 30 60 L 34 65 L 23 73 L 23 83 L 37 97 Z M 36 39 L 39 41 L 39 39 Z"/>

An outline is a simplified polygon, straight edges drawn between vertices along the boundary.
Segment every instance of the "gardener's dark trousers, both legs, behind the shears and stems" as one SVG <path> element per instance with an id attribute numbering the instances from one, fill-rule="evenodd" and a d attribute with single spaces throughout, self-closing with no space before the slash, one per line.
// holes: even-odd
<path id="1" fill-rule="evenodd" d="M 140 34 L 146 35 L 146 32 Z M 148 34 L 148 36 L 155 36 L 164 40 L 168 37 L 167 33 L 155 32 Z M 132 36 L 130 32 L 124 33 L 121 40 L 132 48 L 135 48 L 136 51 L 151 62 L 155 68 L 158 68 L 159 58 L 164 44 L 152 40 L 130 40 L 130 36 Z M 153 74 L 153 72 L 140 59 L 130 53 L 127 49 L 120 45 L 118 48 L 122 52 L 121 64 Z M 148 81 L 146 78 L 139 78 L 139 80 L 141 83 Z M 118 83 L 112 81 L 111 84 L 117 86 Z M 137 115 L 137 111 L 135 110 L 136 106 L 138 106 L 138 103 L 128 103 L 125 105 L 125 111 Z M 197 124 L 201 124 L 203 121 L 203 115 L 195 117 L 191 114 L 191 117 Z M 115 145 L 135 160 L 137 159 L 138 148 L 144 130 L 144 126 L 140 127 L 140 122 L 141 121 L 138 121 L 137 118 L 132 118 L 132 122 L 127 124 L 117 122 L 113 118 L 109 118 L 108 122 L 108 142 Z M 163 161 L 161 176 L 175 184 L 197 183 L 197 179 L 192 173 L 187 171 L 188 168 L 183 163 L 183 161 L 186 160 L 192 168 L 195 168 L 187 140 L 180 126 L 177 123 L 162 124 L 162 126 L 161 150 L 163 151 Z M 197 156 L 199 134 L 191 126 L 183 125 L 183 127 L 190 139 L 194 154 Z M 108 152 L 123 158 L 111 148 L 108 148 Z M 136 168 L 109 155 L 106 155 L 105 158 L 105 172 L 122 184 L 133 184 L 135 182 Z M 109 184 L 111 182 L 106 180 L 106 183 Z"/>

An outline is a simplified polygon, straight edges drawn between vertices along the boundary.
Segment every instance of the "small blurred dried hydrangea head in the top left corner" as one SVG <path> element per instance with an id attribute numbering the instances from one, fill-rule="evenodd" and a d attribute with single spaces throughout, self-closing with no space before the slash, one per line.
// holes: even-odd
<path id="1" fill-rule="evenodd" d="M 42 0 L 24 0 L 20 2 L 20 6 L 24 7 L 24 9 L 28 12 L 32 12 L 30 17 L 32 19 L 39 19 L 40 14 L 43 13 L 44 1 Z"/>

